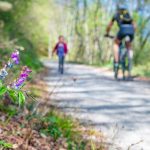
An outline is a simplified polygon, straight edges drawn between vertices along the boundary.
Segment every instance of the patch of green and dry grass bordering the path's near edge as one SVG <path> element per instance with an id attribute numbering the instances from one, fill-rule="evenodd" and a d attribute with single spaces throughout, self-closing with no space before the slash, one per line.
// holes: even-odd
<path id="1" fill-rule="evenodd" d="M 58 110 L 50 110 L 44 116 L 31 115 L 27 119 L 32 122 L 34 130 L 39 131 L 41 135 L 52 137 L 56 143 L 59 141 L 60 146 L 65 145 L 66 150 L 105 150 L 102 134 L 99 137 L 101 142 L 93 141 L 89 136 L 96 135 L 94 131 L 84 130 L 77 120 Z"/>

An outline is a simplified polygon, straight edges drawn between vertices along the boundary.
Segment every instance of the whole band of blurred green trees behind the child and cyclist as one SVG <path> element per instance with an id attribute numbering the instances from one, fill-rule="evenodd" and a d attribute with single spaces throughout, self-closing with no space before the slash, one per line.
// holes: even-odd
<path id="1" fill-rule="evenodd" d="M 134 63 L 149 66 L 149 0 L 3 0 L 0 1 L 0 48 L 19 45 L 23 60 L 36 67 L 51 54 L 60 34 L 66 37 L 68 60 L 92 65 L 111 62 L 113 41 L 104 38 L 117 3 L 127 5 L 137 24 Z M 112 34 L 117 32 L 114 26 Z M 147 68 L 146 68 L 147 69 Z"/>

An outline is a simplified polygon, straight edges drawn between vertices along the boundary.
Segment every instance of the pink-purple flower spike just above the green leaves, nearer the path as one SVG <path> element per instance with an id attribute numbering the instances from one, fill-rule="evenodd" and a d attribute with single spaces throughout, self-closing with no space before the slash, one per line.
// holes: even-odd
<path id="1" fill-rule="evenodd" d="M 32 71 L 27 66 L 24 66 L 22 68 L 19 78 L 13 83 L 12 88 L 20 89 L 23 86 L 24 82 L 27 80 L 31 72 Z"/>

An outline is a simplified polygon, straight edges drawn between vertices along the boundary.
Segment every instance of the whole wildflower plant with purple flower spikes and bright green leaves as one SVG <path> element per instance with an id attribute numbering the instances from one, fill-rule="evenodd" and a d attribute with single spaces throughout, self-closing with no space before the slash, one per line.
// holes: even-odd
<path id="1" fill-rule="evenodd" d="M 10 84 L 5 84 L 5 79 L 9 76 L 9 72 L 15 65 L 19 65 L 20 57 L 19 51 L 14 50 L 12 52 L 10 59 L 0 70 L 0 96 L 8 95 L 10 99 L 15 103 L 20 105 L 25 104 L 25 93 L 22 90 L 29 74 L 32 72 L 27 66 L 23 66 L 20 75 L 17 79 L 12 81 Z"/>

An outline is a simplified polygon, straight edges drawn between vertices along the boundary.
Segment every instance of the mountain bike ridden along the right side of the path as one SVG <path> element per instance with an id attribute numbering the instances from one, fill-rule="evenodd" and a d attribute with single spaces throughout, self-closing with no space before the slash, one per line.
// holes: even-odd
<path id="1" fill-rule="evenodd" d="M 107 38 L 114 39 L 115 36 L 107 35 Z M 114 77 L 115 79 L 119 79 L 119 70 L 122 70 L 122 78 L 123 80 L 132 80 L 131 70 L 132 70 L 132 59 L 130 57 L 130 50 L 126 48 L 127 42 L 130 41 L 130 37 L 126 36 L 119 45 L 119 66 L 115 67 L 114 62 Z M 128 76 L 126 76 L 126 71 L 128 72 Z"/>

